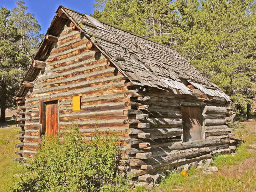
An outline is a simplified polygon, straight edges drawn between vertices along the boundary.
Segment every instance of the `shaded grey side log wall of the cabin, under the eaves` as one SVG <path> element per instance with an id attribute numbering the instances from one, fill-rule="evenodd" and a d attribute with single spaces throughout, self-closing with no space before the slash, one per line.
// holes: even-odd
<path id="1" fill-rule="evenodd" d="M 161 169 L 170 169 L 182 164 L 209 158 L 214 153 L 230 151 L 230 135 L 233 129 L 228 127 L 228 110 L 225 103 L 204 101 L 188 95 L 133 86 L 125 83 L 131 109 L 124 110 L 129 124 L 126 133 L 130 135 L 130 148 L 126 148 L 126 157 L 131 165 L 128 176 L 140 181 L 144 174 L 154 174 Z M 141 98 L 146 98 L 141 100 Z M 204 107 L 205 140 L 182 142 L 181 105 Z M 143 108 L 139 108 L 144 106 Z M 141 117 L 146 116 L 146 118 Z M 141 180 L 142 181 L 142 180 Z"/>

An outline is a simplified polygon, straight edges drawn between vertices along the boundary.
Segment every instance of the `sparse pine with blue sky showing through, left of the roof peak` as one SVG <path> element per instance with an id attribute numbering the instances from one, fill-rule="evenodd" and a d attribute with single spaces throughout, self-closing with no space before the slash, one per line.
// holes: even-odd
<path id="1" fill-rule="evenodd" d="M 16 7 L 12 9 L 11 18 L 14 20 L 14 25 L 18 28 L 18 32 L 21 35 L 17 46 L 19 51 L 23 51 L 31 60 L 44 37 L 43 34 L 40 34 L 41 25 L 38 24 L 35 15 L 27 12 L 28 7 L 23 0 L 18 0 L 15 4 Z"/>

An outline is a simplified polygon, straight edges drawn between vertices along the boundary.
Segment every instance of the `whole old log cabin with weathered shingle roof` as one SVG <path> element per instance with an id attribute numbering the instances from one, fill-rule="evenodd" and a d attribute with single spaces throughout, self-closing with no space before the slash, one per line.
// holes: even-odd
<path id="1" fill-rule="evenodd" d="M 95 121 L 117 134 L 127 175 L 139 181 L 235 148 L 229 96 L 177 51 L 63 6 L 15 100 L 14 161 L 76 120 L 85 140 Z"/>

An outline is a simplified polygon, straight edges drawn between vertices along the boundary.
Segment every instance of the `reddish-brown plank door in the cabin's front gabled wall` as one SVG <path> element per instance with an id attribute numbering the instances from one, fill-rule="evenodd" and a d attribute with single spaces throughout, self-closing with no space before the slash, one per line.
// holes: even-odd
<path id="1" fill-rule="evenodd" d="M 41 103 L 41 135 L 55 136 L 58 133 L 58 101 Z"/>

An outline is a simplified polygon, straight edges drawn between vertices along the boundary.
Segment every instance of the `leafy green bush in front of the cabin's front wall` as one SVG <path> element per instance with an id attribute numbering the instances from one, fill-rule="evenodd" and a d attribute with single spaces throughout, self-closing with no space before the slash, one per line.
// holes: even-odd
<path id="1" fill-rule="evenodd" d="M 44 137 L 35 158 L 29 160 L 28 174 L 20 177 L 14 191 L 106 191 L 104 186 L 114 190 L 124 184 L 123 178 L 117 179 L 121 178 L 116 171 L 121 146 L 116 136 L 96 129 L 86 143 L 77 124 L 72 124 L 63 139 Z"/>

